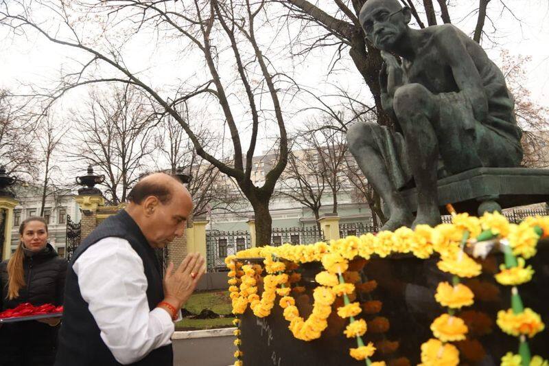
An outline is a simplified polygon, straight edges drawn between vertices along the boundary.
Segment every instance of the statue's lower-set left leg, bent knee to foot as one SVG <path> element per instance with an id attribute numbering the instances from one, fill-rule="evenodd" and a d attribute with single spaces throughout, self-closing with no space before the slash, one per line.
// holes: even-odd
<path id="1" fill-rule="evenodd" d="M 410 226 L 413 216 L 406 206 L 404 198 L 390 180 L 381 153 L 375 148 L 372 130 L 375 127 L 379 126 L 365 123 L 354 124 L 347 132 L 347 141 L 349 150 L 364 176 L 389 207 L 389 220 L 382 230 L 393 231 L 401 226 Z"/>

